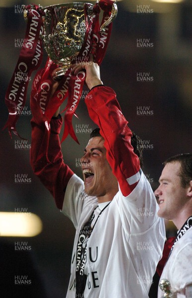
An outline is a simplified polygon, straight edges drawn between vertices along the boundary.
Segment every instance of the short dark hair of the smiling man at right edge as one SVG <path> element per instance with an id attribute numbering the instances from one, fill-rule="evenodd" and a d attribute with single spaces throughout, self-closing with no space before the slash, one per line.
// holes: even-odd
<path id="1" fill-rule="evenodd" d="M 179 161 L 181 163 L 181 170 L 178 175 L 181 178 L 182 187 L 186 186 L 192 180 L 192 153 L 182 153 L 169 157 L 163 162 L 165 166 L 167 163 Z"/>

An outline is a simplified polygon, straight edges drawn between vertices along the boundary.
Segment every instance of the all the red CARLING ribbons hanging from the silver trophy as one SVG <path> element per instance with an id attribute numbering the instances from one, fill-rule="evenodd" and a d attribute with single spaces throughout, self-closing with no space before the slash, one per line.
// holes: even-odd
<path id="1" fill-rule="evenodd" d="M 105 31 L 100 32 L 100 27 L 110 17 L 113 4 L 114 1 L 112 0 L 100 0 L 94 5 L 91 22 L 90 24 L 86 24 L 84 43 L 78 56 L 72 63 L 89 61 L 90 54 L 92 54 L 94 61 L 99 65 L 101 64 L 111 35 L 112 23 L 105 28 Z M 33 8 L 30 9 L 31 7 Z M 38 5 L 28 5 L 27 8 L 30 13 L 28 14 L 25 40 L 27 40 L 27 42 L 32 40 L 31 35 L 33 33 L 33 47 L 31 49 L 30 47 L 26 48 L 26 46 L 23 46 L 15 68 L 15 73 L 18 72 L 18 70 L 20 71 L 19 68 L 22 66 L 21 71 L 27 73 L 29 76 L 33 70 L 38 69 L 42 60 L 42 44 L 39 35 L 40 31 L 43 30 L 41 17 L 43 10 L 39 9 Z M 101 8 L 104 13 L 100 25 L 99 13 Z M 86 21 L 86 11 L 84 13 Z M 39 56 L 36 55 L 36 53 L 39 53 Z M 34 63 L 34 61 L 36 63 Z M 25 68 L 24 65 L 26 66 Z M 66 110 L 64 115 L 64 135 L 61 142 L 70 134 L 73 140 L 78 143 L 72 127 L 72 116 L 75 115 L 76 108 L 80 101 L 86 74 L 84 71 L 81 71 L 77 75 L 73 75 L 70 73 L 70 69 L 68 69 L 63 75 L 56 92 L 51 97 L 52 86 L 54 84 L 52 74 L 58 67 L 57 64 L 48 58 L 45 68 L 38 71 L 36 74 L 32 84 L 30 99 L 31 111 L 37 123 L 43 120 L 47 128 L 49 128 L 51 118 L 68 96 L 68 102 L 64 109 Z M 16 89 L 17 85 L 18 89 Z M 23 81 L 18 84 L 13 74 L 5 96 L 5 102 L 9 110 L 9 117 L 5 127 L 8 127 L 10 135 L 11 131 L 18 135 L 15 129 L 16 121 L 19 117 L 17 109 L 18 106 L 20 107 L 22 105 L 23 107 L 25 104 L 27 85 L 28 81 Z M 23 98 L 22 102 L 20 99 L 21 96 Z M 50 133 L 49 129 L 48 133 Z"/>

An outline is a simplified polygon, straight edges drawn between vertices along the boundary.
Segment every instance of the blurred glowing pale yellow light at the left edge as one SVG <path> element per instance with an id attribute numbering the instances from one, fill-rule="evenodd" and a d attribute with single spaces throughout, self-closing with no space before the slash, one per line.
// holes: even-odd
<path id="1" fill-rule="evenodd" d="M 42 231 L 41 219 L 26 212 L 0 212 L 0 236 L 34 237 Z"/>

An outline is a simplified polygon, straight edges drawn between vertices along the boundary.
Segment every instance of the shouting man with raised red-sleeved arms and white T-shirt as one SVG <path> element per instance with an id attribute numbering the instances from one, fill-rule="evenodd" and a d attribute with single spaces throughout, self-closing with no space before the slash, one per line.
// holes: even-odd
<path id="1" fill-rule="evenodd" d="M 34 173 L 76 228 L 66 297 L 147 298 L 162 256 L 164 222 L 115 92 L 103 85 L 97 64 L 74 65 L 71 72 L 82 69 L 91 95 L 85 103 L 99 127 L 81 158 L 84 181 L 63 161 L 59 112 L 49 139 L 44 121 L 32 119 Z M 41 148 L 47 150 L 39 156 Z"/>

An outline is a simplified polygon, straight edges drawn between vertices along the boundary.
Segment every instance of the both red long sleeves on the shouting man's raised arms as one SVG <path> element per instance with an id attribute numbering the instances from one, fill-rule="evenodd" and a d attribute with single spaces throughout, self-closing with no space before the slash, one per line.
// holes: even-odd
<path id="1" fill-rule="evenodd" d="M 121 190 L 127 196 L 136 186 L 128 185 L 126 178 L 140 169 L 139 159 L 130 145 L 131 131 L 127 120 L 121 112 L 115 92 L 104 86 L 90 91 L 92 100 L 85 99 L 91 119 L 100 127 L 105 139 L 107 158 L 116 175 Z M 54 196 L 56 205 L 62 209 L 64 191 L 72 176 L 72 170 L 64 164 L 59 133 L 63 119 L 51 120 L 51 134 L 46 126 L 46 118 L 42 114 L 38 124 L 33 118 L 30 162 L 34 173 Z"/>

